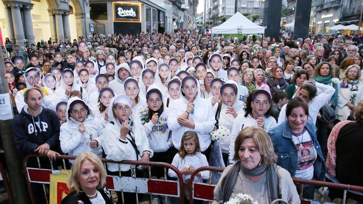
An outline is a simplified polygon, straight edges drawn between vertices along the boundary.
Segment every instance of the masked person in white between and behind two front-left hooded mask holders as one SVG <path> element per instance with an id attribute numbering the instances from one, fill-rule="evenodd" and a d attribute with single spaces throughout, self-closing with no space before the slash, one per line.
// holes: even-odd
<path id="1" fill-rule="evenodd" d="M 93 112 L 95 118 L 98 118 L 101 121 L 102 127 L 105 127 L 107 123 L 109 123 L 109 115 L 107 113 L 113 97 L 115 97 L 115 93 L 109 87 L 99 91 L 98 106 Z"/>

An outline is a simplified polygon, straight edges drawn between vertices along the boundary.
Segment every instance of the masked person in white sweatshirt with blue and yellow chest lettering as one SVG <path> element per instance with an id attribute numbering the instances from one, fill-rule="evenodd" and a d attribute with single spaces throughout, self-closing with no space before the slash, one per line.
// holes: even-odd
<path id="1" fill-rule="evenodd" d="M 152 157 L 153 162 L 172 162 L 172 154 L 170 148 L 173 146 L 171 142 L 171 131 L 167 121 L 170 115 L 169 109 L 164 105 L 165 98 L 160 88 L 152 84 L 146 92 L 146 111 L 138 111 L 138 117 L 144 127 L 150 148 L 154 151 Z M 151 175 L 161 178 L 164 176 L 163 167 L 153 167 Z"/>

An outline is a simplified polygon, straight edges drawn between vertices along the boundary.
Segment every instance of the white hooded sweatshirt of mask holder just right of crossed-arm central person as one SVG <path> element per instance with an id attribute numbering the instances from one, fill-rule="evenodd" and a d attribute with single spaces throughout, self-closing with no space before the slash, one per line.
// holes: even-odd
<path id="1" fill-rule="evenodd" d="M 231 83 L 234 86 L 237 86 L 237 83 L 233 80 L 228 80 L 226 83 Z M 237 93 L 238 93 L 238 88 L 237 88 Z M 231 131 L 233 128 L 233 122 L 234 122 L 234 117 L 232 114 L 227 113 L 228 107 L 227 105 L 225 105 L 223 102 L 222 103 L 220 112 L 219 112 L 219 119 L 218 119 L 218 125 L 219 126 L 224 126 L 227 127 L 229 129 L 229 133 L 231 135 Z M 219 103 L 216 103 L 213 107 L 213 113 L 216 115 L 216 112 L 218 110 L 218 106 Z M 233 103 L 232 105 L 233 109 L 236 111 L 236 113 L 238 115 L 244 114 L 245 111 L 243 110 L 243 108 L 245 107 L 245 103 L 241 102 L 238 100 L 238 98 L 236 97 L 236 101 Z M 229 153 L 229 140 L 230 138 L 225 138 L 225 139 L 221 139 L 219 140 L 220 144 L 221 144 L 221 149 L 223 153 L 228 154 Z M 234 149 L 233 149 L 234 150 Z"/>

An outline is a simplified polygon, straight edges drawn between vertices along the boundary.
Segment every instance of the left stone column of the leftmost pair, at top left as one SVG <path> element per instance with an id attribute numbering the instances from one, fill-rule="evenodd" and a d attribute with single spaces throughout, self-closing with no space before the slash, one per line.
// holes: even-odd
<path id="1" fill-rule="evenodd" d="M 22 46 L 24 45 L 23 40 L 25 39 L 25 36 L 24 36 L 23 22 L 21 20 L 21 13 L 20 13 L 21 5 L 11 4 L 10 6 L 13 18 L 15 44 Z"/>

